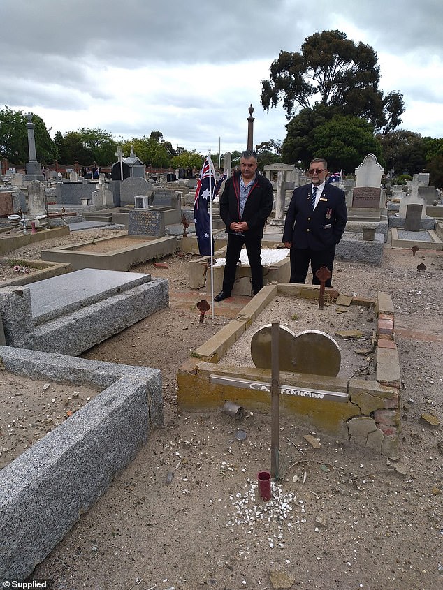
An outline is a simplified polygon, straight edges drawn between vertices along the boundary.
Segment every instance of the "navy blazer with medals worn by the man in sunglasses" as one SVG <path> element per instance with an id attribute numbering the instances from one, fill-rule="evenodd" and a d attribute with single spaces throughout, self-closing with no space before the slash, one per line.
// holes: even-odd
<path id="1" fill-rule="evenodd" d="M 282 241 L 300 249 L 326 250 L 340 242 L 347 223 L 344 191 L 326 182 L 314 211 L 311 191 L 312 184 L 293 191 Z"/>

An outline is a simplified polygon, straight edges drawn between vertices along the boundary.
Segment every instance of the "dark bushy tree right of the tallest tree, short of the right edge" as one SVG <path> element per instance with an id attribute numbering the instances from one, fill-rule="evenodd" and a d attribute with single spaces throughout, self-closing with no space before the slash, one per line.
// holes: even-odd
<path id="1" fill-rule="evenodd" d="M 426 141 L 419 133 L 398 129 L 377 135 L 377 139 L 382 145 L 386 168 L 394 170 L 395 176 L 404 170 L 409 175 L 423 171 L 427 159 Z"/>

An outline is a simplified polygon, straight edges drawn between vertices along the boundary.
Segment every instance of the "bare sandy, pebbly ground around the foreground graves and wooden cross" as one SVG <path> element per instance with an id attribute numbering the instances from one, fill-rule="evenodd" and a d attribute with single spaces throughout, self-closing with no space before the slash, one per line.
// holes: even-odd
<path id="1" fill-rule="evenodd" d="M 14 255 L 38 256 L 21 250 Z M 256 474 L 270 463 L 270 417 L 248 413 L 236 422 L 218 411 L 177 411 L 177 369 L 244 304 L 234 297 L 200 324 L 194 306 L 202 297 L 187 288 L 188 261 L 176 254 L 163 260 L 167 268 L 136 267 L 170 281 L 170 307 L 82 355 L 159 367 L 166 424 L 30 580 L 52 580 L 57 590 L 440 587 L 443 433 L 421 415 L 443 417 L 442 253 L 413 257 L 386 246 L 381 268 L 337 261 L 340 293 L 383 291 L 393 300 L 403 381 L 399 456 L 386 460 L 282 416 L 284 478 L 266 504 Z"/>

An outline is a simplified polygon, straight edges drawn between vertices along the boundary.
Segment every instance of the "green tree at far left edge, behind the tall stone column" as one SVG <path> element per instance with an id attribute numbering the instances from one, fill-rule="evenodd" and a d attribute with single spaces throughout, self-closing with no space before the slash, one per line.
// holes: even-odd
<path id="1" fill-rule="evenodd" d="M 8 158 L 10 163 L 24 164 L 29 161 L 27 122 L 22 111 L 15 111 L 7 106 L 0 110 L 0 155 Z M 57 155 L 55 144 L 41 117 L 33 115 L 32 122 L 37 160 L 50 163 Z"/>

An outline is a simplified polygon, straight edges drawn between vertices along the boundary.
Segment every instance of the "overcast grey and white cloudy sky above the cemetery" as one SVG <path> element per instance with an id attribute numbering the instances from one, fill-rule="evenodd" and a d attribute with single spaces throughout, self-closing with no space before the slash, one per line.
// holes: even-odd
<path id="1" fill-rule="evenodd" d="M 400 128 L 443 137 L 442 0 L 0 0 L 0 108 L 34 112 L 52 137 L 80 127 L 116 140 L 161 131 L 201 154 L 286 137 L 261 80 L 280 50 L 338 29 L 371 45 Z"/>

